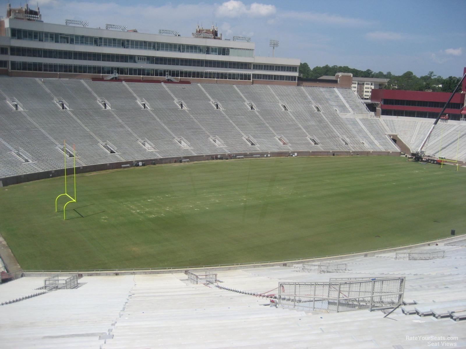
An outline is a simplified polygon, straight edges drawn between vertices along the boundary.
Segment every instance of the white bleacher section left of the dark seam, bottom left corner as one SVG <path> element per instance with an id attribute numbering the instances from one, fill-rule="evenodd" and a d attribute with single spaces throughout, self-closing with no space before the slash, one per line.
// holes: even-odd
<path id="1" fill-rule="evenodd" d="M 15 280 L 11 285 L 23 279 L 27 282 L 29 278 Z M 43 285 L 44 278 L 32 279 L 34 284 Z M 104 342 L 99 337 L 108 334 L 123 309 L 134 285 L 133 277 L 94 276 L 80 282 L 88 283 L 78 289 L 57 290 L 2 306 L 1 347 L 99 348 Z M 4 287 L 12 286 L 0 285 L 0 294 Z"/>

